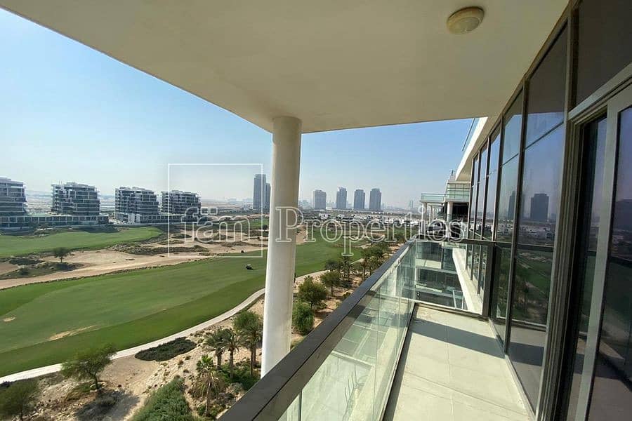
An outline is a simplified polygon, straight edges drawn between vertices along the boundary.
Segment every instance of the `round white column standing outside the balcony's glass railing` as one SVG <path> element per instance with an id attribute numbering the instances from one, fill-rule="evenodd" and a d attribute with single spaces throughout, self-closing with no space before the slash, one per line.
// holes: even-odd
<path id="1" fill-rule="evenodd" d="M 289 352 L 296 225 L 284 208 L 298 208 L 298 171 L 301 166 L 301 120 L 274 119 L 272 133 L 272 181 L 270 182 L 270 227 L 268 265 L 265 269 L 263 347 L 261 375 L 265 375 Z M 285 239 L 286 241 L 279 241 Z"/>

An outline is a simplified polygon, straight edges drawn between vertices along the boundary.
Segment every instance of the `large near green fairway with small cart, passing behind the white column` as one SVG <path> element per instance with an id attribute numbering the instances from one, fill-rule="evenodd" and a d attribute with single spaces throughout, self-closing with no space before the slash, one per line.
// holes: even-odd
<path id="1" fill-rule="evenodd" d="M 341 250 L 325 241 L 298 246 L 296 274 L 322 270 Z M 0 376 L 86 346 L 133 347 L 222 314 L 263 288 L 265 253 L 258 254 L 1 290 Z"/>

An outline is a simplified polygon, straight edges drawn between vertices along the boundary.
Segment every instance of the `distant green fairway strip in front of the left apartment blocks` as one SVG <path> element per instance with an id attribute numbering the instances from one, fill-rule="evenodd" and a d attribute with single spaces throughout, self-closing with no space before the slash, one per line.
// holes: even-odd
<path id="1" fill-rule="evenodd" d="M 71 250 L 98 249 L 114 244 L 133 243 L 162 234 L 156 227 L 119 228 L 113 232 L 69 231 L 44 236 L 0 235 L 0 258 L 42 253 L 55 247 Z"/>

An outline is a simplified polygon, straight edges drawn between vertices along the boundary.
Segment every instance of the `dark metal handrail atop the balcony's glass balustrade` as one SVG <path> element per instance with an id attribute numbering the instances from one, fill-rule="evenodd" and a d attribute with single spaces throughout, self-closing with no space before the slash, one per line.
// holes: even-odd
<path id="1" fill-rule="evenodd" d="M 340 307 L 327 316 L 284 359 L 259 380 L 223 416 L 224 421 L 278 420 L 327 356 L 331 354 L 376 291 L 372 288 L 390 273 L 414 244 L 407 241 L 383 265 L 362 282 Z"/>

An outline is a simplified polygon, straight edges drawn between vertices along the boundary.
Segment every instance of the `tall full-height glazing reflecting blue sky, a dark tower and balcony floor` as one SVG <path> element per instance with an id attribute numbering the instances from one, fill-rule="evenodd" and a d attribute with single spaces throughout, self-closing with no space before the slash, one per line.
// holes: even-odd
<path id="1" fill-rule="evenodd" d="M 540 389 L 553 233 L 560 201 L 566 36 L 564 29 L 536 68 L 527 97 L 527 139 L 508 354 L 532 408 Z"/>

